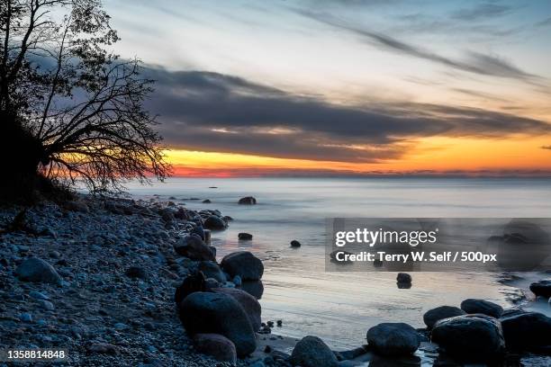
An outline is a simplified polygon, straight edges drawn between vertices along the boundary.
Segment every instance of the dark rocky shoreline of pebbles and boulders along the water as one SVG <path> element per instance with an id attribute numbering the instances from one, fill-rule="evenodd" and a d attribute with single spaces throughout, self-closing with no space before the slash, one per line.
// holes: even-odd
<path id="1" fill-rule="evenodd" d="M 379 324 L 350 351 L 276 336 L 282 321 L 263 322 L 257 301 L 262 262 L 243 251 L 217 259 L 209 245 L 230 221 L 172 201 L 89 195 L 0 210 L 0 345 L 62 348 L 68 365 L 92 366 L 530 365 L 549 354 L 551 319 L 485 300 L 431 309 L 425 329 Z M 548 298 L 551 282 L 532 289 Z"/>

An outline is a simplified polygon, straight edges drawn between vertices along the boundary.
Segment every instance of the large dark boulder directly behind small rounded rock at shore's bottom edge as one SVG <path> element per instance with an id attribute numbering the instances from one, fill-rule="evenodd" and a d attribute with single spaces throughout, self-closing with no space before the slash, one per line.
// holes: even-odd
<path id="1" fill-rule="evenodd" d="M 253 353 L 257 347 L 245 310 L 227 294 L 196 291 L 185 297 L 178 312 L 190 336 L 211 333 L 226 336 L 239 357 Z"/>

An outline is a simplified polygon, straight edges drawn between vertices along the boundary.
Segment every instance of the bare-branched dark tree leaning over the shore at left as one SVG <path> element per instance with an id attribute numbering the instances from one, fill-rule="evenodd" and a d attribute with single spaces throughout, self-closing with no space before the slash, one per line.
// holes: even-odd
<path id="1" fill-rule="evenodd" d="M 48 177 L 119 190 L 170 167 L 143 101 L 152 81 L 119 40 L 99 0 L 0 3 L 0 159 L 14 188 Z"/>

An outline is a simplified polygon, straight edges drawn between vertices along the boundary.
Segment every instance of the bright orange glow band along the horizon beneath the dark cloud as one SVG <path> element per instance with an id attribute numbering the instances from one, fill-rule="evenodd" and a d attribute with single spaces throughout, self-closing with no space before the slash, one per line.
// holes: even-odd
<path id="1" fill-rule="evenodd" d="M 301 171 L 342 174 L 394 173 L 409 174 L 431 171 L 503 171 L 551 173 L 551 137 L 467 139 L 425 138 L 411 142 L 410 150 L 397 159 L 375 163 L 332 162 L 309 159 L 261 157 L 246 154 L 199 152 L 183 149 L 167 150 L 167 160 L 176 176 L 262 176 Z"/>

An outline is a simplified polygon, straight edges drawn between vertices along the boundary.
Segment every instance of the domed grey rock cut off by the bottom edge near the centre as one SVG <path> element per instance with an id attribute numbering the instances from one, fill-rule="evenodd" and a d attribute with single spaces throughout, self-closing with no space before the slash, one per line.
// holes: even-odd
<path id="1" fill-rule="evenodd" d="M 337 357 L 317 336 L 305 336 L 293 349 L 289 360 L 294 366 L 302 367 L 337 367 Z"/>

